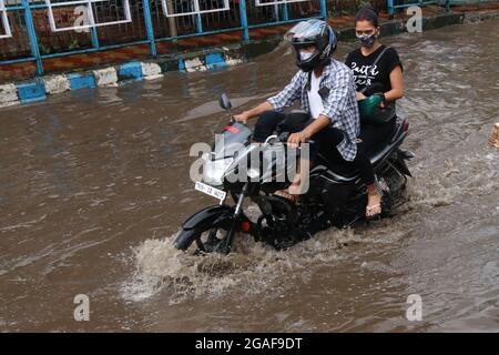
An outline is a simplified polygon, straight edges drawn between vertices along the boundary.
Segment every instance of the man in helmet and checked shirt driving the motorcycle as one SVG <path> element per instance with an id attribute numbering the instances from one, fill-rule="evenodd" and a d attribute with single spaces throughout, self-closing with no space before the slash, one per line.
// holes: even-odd
<path id="1" fill-rule="evenodd" d="M 309 113 L 309 120 L 301 128 L 292 128 L 295 133 L 288 143 L 297 146 L 312 139 L 329 161 L 352 164 L 363 176 L 373 174 L 368 159 L 357 152 L 360 122 L 353 73 L 330 58 L 337 43 L 333 29 L 324 21 L 308 20 L 295 26 L 288 36 L 301 70 L 277 95 L 235 119 L 246 123 L 249 118 L 259 115 L 254 140 L 264 142 L 286 119 L 279 111 L 299 100 L 302 109 Z M 317 146 L 310 146 L 312 160 L 316 150 Z M 293 185 L 289 192 L 294 192 Z M 285 195 L 285 192 L 279 194 Z"/>

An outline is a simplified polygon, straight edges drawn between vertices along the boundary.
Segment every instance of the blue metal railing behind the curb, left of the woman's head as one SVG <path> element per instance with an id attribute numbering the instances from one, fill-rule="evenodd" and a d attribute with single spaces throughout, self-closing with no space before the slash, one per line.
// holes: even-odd
<path id="1" fill-rule="evenodd" d="M 37 2 L 38 1 L 38 2 Z M 115 0 L 118 3 L 119 0 Z M 135 14 L 134 22 L 138 26 L 143 26 L 143 34 L 139 34 L 140 38 L 135 38 L 134 40 L 125 41 L 123 43 L 109 43 L 103 44 L 103 42 L 106 42 L 103 39 L 103 33 L 105 32 L 105 29 L 103 28 L 91 28 L 89 33 L 79 34 L 82 38 L 86 38 L 86 41 L 89 44 L 85 48 L 77 48 L 71 49 L 67 48 L 65 50 L 54 50 L 54 52 L 50 51 L 41 51 L 40 49 L 43 48 L 43 43 L 40 41 L 40 32 L 42 32 L 41 28 L 38 28 L 39 22 L 34 21 L 33 18 L 33 11 L 45 11 L 47 4 L 42 0 L 18 0 L 18 1 L 10 1 L 14 4 L 7 4 L 6 10 L 8 14 L 11 14 L 10 18 L 12 18 L 14 14 L 19 18 L 20 16 L 23 16 L 24 23 L 19 24 L 19 27 L 22 27 L 22 31 L 13 31 L 12 36 L 27 36 L 29 41 L 29 48 L 31 55 L 23 55 L 23 58 L 19 54 L 21 52 L 19 48 L 17 47 L 18 43 L 16 43 L 12 54 L 9 58 L 9 51 L 3 50 L 3 45 L 7 48 L 8 44 L 6 44 L 9 40 L 12 39 L 0 39 L 0 65 L 1 64 L 13 64 L 13 63 L 20 63 L 20 62 L 35 62 L 37 68 L 37 74 L 42 75 L 43 74 L 43 60 L 44 59 L 51 59 L 57 57 L 65 57 L 71 54 L 82 54 L 82 53 L 91 53 L 96 51 L 104 51 L 109 49 L 116 49 L 122 47 L 129 47 L 129 45 L 135 45 L 135 44 L 149 44 L 149 52 L 150 55 L 156 57 L 157 50 L 156 50 L 156 43 L 162 41 L 175 41 L 177 39 L 185 39 L 185 38 L 193 38 L 198 36 L 206 36 L 206 34 L 217 34 L 217 33 L 224 33 L 224 32 L 233 32 L 233 31 L 242 31 L 242 40 L 248 41 L 249 40 L 249 29 L 255 28 L 264 28 L 269 26 L 279 26 L 279 24 L 286 24 L 286 23 L 294 23 L 297 21 L 303 20 L 304 18 L 320 18 L 326 19 L 327 18 L 327 9 L 326 9 L 326 0 L 312 0 L 312 2 L 318 4 L 319 11 L 317 13 L 308 14 L 307 17 L 302 17 L 298 13 L 302 11 L 302 3 L 301 2 L 294 2 L 294 3 L 281 3 L 281 4 L 274 4 L 274 6 L 267 6 L 267 7 L 256 7 L 254 1 L 255 0 L 231 0 L 233 7 L 231 7 L 231 13 L 218 16 L 218 22 L 216 22 L 215 14 L 210 16 L 201 16 L 195 14 L 192 18 L 195 20 L 190 21 L 189 16 L 185 17 L 186 19 L 181 18 L 173 18 L 174 20 L 167 19 L 170 27 L 172 27 L 172 21 L 174 23 L 174 27 L 177 24 L 185 24 L 186 28 L 193 22 L 195 27 L 194 33 L 172 33 L 172 29 L 170 28 L 170 31 L 167 31 L 167 36 L 157 36 L 157 32 L 160 31 L 161 26 L 161 16 L 164 17 L 164 13 L 161 13 L 161 10 L 159 10 L 157 7 L 157 0 L 135 0 L 132 6 L 132 11 Z M 210 0 L 210 1 L 217 1 L 217 0 Z M 132 2 L 132 0 L 131 0 Z M 183 0 L 179 0 L 175 2 L 175 7 L 184 6 Z M 152 4 L 155 7 L 152 8 Z M 118 6 L 116 6 L 118 7 Z M 299 7 L 299 8 L 298 8 Z M 161 7 L 160 7 L 161 8 Z M 271 10 L 273 8 L 274 11 Z M 175 8 L 177 9 L 177 8 Z M 298 10 L 297 10 L 298 9 Z M 227 11 L 225 11 L 227 12 Z M 45 16 L 43 16 L 43 19 Z M 165 18 L 165 17 L 164 17 Z M 163 20 L 164 20 L 163 18 Z M 155 21 L 153 21 L 155 20 Z M 143 22 L 143 23 L 142 23 Z M 220 22 L 222 23 L 228 23 L 225 28 L 220 28 Z M 204 26 L 205 24 L 205 26 Z M 133 24 L 132 24 L 133 26 Z M 114 29 L 115 26 L 110 26 L 110 29 Z M 215 27 L 215 28 L 210 28 Z M 222 26 L 223 27 L 223 26 Z M 120 29 L 126 29 L 126 24 L 120 26 Z M 1 30 L 1 29 L 0 29 Z M 26 33 L 20 33 L 24 32 Z M 47 32 L 47 29 L 45 29 Z M 58 32 L 61 33 L 61 32 Z M 54 33 L 50 33 L 50 36 L 55 36 Z M 60 34 L 58 34 L 60 36 Z M 49 39 L 50 41 L 51 39 Z M 11 45 L 12 47 L 12 45 Z M 3 52 L 3 53 L 2 53 Z M 7 57 L 7 58 L 6 58 Z M 12 58 L 13 57 L 13 58 Z"/>

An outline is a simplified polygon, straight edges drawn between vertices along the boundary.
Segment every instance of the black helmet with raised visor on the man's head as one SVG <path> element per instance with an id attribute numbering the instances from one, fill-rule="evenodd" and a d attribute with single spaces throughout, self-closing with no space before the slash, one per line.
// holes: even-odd
<path id="1" fill-rule="evenodd" d="M 302 21 L 287 32 L 286 38 L 295 48 L 296 65 L 306 72 L 326 65 L 337 44 L 335 32 L 322 20 Z M 303 59 L 299 50 L 309 45 L 315 45 L 316 50 Z"/>

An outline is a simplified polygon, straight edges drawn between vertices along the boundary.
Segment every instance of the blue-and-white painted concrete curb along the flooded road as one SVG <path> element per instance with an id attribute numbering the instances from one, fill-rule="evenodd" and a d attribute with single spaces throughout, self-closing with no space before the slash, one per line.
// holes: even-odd
<path id="1" fill-rule="evenodd" d="M 450 24 L 475 23 L 492 19 L 499 19 L 499 11 L 445 13 L 424 18 L 422 29 L 432 30 Z M 404 19 L 385 22 L 381 27 L 385 36 L 395 36 L 407 31 Z M 354 28 L 340 29 L 337 36 L 340 41 L 354 40 Z M 281 41 L 282 36 L 274 36 L 247 43 L 157 58 L 153 61 L 133 61 L 88 72 L 48 75 L 20 83 L 1 84 L 0 108 L 42 101 L 47 99 L 47 95 L 69 90 L 112 88 L 132 81 L 156 80 L 163 78 L 164 73 L 170 71 L 191 73 L 225 69 L 269 52 Z"/>

